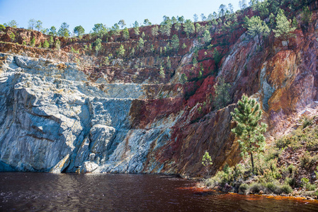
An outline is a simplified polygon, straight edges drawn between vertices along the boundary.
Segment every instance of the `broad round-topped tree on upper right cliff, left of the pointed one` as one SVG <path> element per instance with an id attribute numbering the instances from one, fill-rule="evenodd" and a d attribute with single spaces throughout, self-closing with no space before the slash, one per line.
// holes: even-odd
<path id="1" fill-rule="evenodd" d="M 261 35 L 267 36 L 270 32 L 266 23 L 261 20 L 259 16 L 253 16 L 251 18 L 245 16 L 244 19 L 249 37 L 257 36 L 259 43 L 261 44 Z"/>

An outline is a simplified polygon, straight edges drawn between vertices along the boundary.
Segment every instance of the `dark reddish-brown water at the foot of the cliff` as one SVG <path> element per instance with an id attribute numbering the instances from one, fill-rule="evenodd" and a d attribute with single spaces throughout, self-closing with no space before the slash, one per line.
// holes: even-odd
<path id="1" fill-rule="evenodd" d="M 0 173 L 0 211 L 318 211 L 313 201 L 207 194 L 158 175 Z"/>

